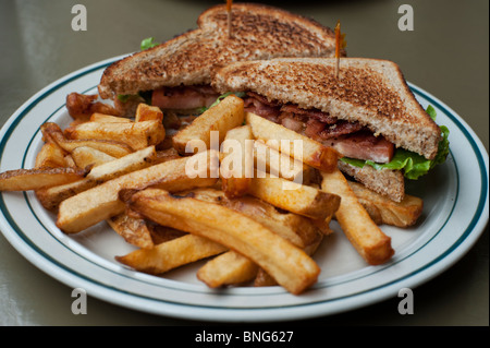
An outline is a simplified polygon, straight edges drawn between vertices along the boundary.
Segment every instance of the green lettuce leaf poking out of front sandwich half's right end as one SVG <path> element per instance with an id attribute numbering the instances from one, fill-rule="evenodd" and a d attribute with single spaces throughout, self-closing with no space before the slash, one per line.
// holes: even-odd
<path id="1" fill-rule="evenodd" d="M 426 112 L 436 120 L 436 109 L 429 105 Z M 388 164 L 377 164 L 372 160 L 362 160 L 355 158 L 343 157 L 342 161 L 350 164 L 355 167 L 363 168 L 365 165 L 369 165 L 376 169 L 393 169 L 393 170 L 402 170 L 405 178 L 416 180 L 421 176 L 425 176 L 429 172 L 430 169 L 436 167 L 437 165 L 443 164 L 449 154 L 449 134 L 450 131 L 448 127 L 440 125 L 442 133 L 442 140 L 439 142 L 438 154 L 433 159 L 426 159 L 424 156 L 420 156 L 416 153 L 397 148 L 392 160 Z"/>

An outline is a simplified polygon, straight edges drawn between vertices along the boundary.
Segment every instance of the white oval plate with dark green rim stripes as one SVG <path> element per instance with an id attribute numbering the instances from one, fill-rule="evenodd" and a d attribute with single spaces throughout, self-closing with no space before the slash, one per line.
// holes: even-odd
<path id="1" fill-rule="evenodd" d="M 0 171 L 32 168 L 42 141 L 39 127 L 70 121 L 65 97 L 71 92 L 97 93 L 103 69 L 117 57 L 76 71 L 27 100 L 4 124 Z M 476 134 L 442 101 L 411 84 L 424 107 L 432 105 L 438 123 L 449 127 L 451 153 L 433 172 L 409 182 L 407 191 L 424 199 L 424 214 L 414 228 L 383 226 L 394 257 L 368 266 L 332 223 L 336 232 L 317 251 L 318 283 L 301 296 L 281 287 L 209 289 L 199 283 L 199 263 L 150 276 L 114 261 L 133 250 L 101 223 L 75 236 L 62 233 L 33 192 L 0 195 L 0 227 L 12 245 L 34 265 L 89 296 L 138 311 L 205 321 L 278 322 L 345 312 L 394 298 L 457 262 L 476 242 L 488 221 L 488 154 Z"/>

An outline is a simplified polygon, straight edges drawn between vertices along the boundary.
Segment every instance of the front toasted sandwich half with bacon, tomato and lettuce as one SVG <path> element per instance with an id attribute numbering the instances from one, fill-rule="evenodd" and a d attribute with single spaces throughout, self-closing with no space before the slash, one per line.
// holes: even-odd
<path id="1" fill-rule="evenodd" d="M 404 170 L 390 169 L 400 151 L 437 159 L 443 136 L 391 61 L 284 58 L 217 68 L 220 93 L 245 92 L 245 109 L 326 146 L 340 169 L 369 189 L 400 202 Z M 444 158 L 445 159 L 445 158 Z M 369 164 L 369 165 L 366 165 Z"/>

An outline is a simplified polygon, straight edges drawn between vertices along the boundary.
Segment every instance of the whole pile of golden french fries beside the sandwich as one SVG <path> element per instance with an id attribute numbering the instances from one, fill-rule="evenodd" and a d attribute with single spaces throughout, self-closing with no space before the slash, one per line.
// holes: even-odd
<path id="1" fill-rule="evenodd" d="M 211 288 L 299 295 L 318 279 L 314 254 L 332 219 L 377 265 L 394 253 L 379 226 L 412 226 L 421 213 L 420 199 L 394 203 L 348 181 L 336 152 L 245 112 L 234 95 L 175 132 L 146 104 L 134 118 L 88 109 L 65 130 L 42 124 L 34 168 L 1 173 L 0 190 L 34 190 L 65 233 L 108 224 L 135 247 L 115 260 L 139 272 L 206 261 L 196 276 Z"/>

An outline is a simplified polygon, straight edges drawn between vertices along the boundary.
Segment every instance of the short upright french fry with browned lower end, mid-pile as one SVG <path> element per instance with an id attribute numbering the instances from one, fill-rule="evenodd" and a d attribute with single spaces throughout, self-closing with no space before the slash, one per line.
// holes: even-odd
<path id="1" fill-rule="evenodd" d="M 248 125 L 234 128 L 224 136 L 220 178 L 228 197 L 238 197 L 248 191 L 254 176 L 253 140 Z"/>

